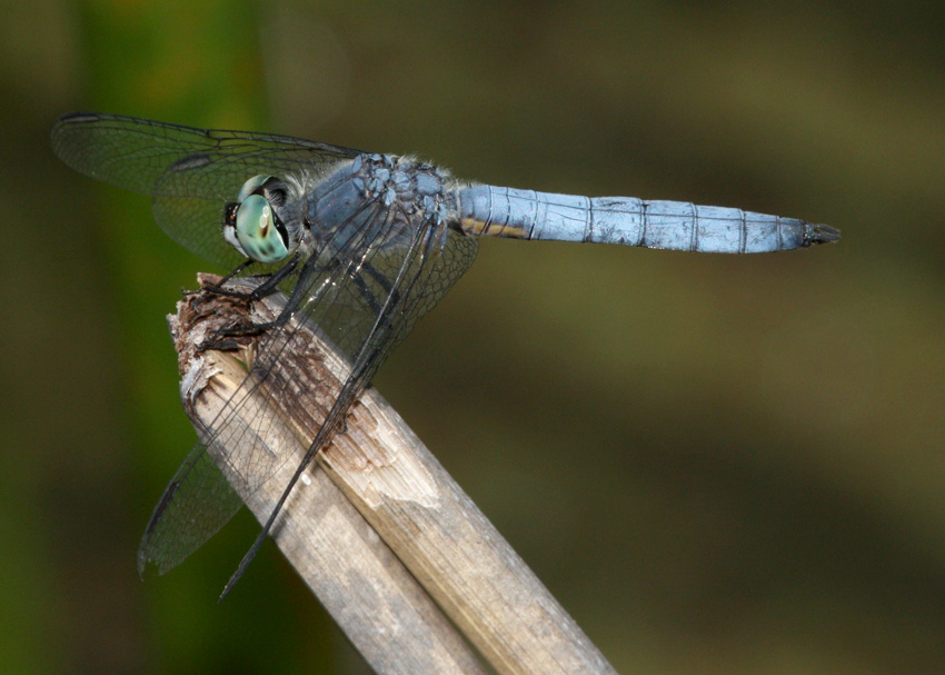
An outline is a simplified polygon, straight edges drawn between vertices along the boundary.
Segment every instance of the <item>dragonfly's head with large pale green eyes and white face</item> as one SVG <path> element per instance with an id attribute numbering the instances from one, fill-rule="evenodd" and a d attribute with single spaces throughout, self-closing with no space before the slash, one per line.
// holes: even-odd
<path id="1" fill-rule="evenodd" d="M 237 201 L 223 212 L 223 239 L 247 258 L 280 262 L 289 256 L 290 241 L 279 211 L 287 187 L 275 176 L 253 176 L 239 190 Z"/>

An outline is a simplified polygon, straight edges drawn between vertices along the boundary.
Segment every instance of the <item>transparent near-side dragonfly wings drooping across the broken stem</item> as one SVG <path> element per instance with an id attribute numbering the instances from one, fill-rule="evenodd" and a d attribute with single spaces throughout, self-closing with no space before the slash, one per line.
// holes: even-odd
<path id="1" fill-rule="evenodd" d="M 402 227 L 397 225 L 404 221 L 399 208 L 398 202 L 366 202 L 358 218 L 384 226 L 357 228 L 337 250 L 317 251 L 297 272 L 289 302 L 294 298 L 305 301 L 290 321 L 261 339 L 246 380 L 210 425 L 203 445 L 192 450 L 168 486 L 141 542 L 139 570 L 148 564 L 161 574 L 172 568 L 238 510 L 239 497 L 209 459 L 206 447 L 239 448 L 229 454 L 228 474 L 246 478 L 237 490 L 242 495 L 255 492 L 287 460 L 272 451 L 281 445 L 272 443 L 273 436 L 278 438 L 282 431 L 262 428 L 272 417 L 260 417 L 249 428 L 237 420 L 245 406 L 258 406 L 260 399 L 285 408 L 291 406 L 298 387 L 319 386 L 287 377 L 285 369 L 278 368 L 300 325 L 318 326 L 351 364 L 330 408 L 308 411 L 316 429 L 312 445 L 318 448 L 330 439 L 351 403 L 416 319 L 471 265 L 477 248 L 474 237 L 426 220 L 410 230 L 409 237 L 392 236 L 394 228 Z"/>

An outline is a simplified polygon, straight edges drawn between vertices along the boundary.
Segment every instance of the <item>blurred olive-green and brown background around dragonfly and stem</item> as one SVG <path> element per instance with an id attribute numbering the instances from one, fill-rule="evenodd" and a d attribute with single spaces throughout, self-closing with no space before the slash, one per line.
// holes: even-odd
<path id="1" fill-rule="evenodd" d="M 146 584 L 216 270 L 51 155 L 74 109 L 839 227 L 484 241 L 377 385 L 621 673 L 945 672 L 945 6 L 0 2 L 0 667 L 360 673 L 247 515 Z"/>

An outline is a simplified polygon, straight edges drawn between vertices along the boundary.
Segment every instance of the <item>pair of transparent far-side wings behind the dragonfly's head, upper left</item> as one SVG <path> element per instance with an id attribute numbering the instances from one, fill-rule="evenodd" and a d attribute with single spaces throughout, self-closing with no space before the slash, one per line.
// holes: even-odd
<path id="1" fill-rule="evenodd" d="M 256 175 L 322 173 L 357 150 L 290 136 L 180 127 L 135 117 L 73 112 L 56 122 L 52 149 L 92 178 L 153 197 L 172 239 L 231 269 L 242 261 L 220 237 L 223 205 Z"/>

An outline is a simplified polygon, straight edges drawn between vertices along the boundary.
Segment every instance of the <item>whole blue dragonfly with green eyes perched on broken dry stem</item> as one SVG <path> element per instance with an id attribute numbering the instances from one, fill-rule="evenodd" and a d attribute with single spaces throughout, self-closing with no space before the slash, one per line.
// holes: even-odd
<path id="1" fill-rule="evenodd" d="M 839 231 L 737 208 L 630 197 L 581 197 L 462 181 L 410 156 L 361 152 L 289 136 L 208 130 L 135 117 L 72 112 L 52 128 L 53 151 L 92 178 L 151 196 L 171 238 L 247 278 L 252 290 L 206 291 L 258 299 L 285 292 L 278 318 L 235 327 L 261 335 L 250 371 L 156 506 L 138 570 L 163 574 L 240 508 L 208 449 L 238 445 L 247 394 L 279 363 L 288 334 L 316 325 L 350 371 L 295 477 L 286 485 L 221 598 L 267 537 L 302 470 L 344 427 L 352 401 L 415 321 L 472 264 L 481 236 L 617 244 L 682 251 L 755 254 L 806 248 Z M 281 339 L 277 339 L 281 338 Z M 261 423 L 260 423 L 261 424 Z M 250 425 L 251 426 L 251 425 Z M 252 476 L 251 494 L 287 460 L 261 441 L 229 463 Z"/>

